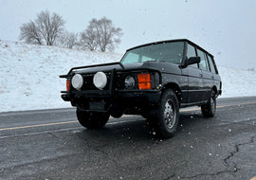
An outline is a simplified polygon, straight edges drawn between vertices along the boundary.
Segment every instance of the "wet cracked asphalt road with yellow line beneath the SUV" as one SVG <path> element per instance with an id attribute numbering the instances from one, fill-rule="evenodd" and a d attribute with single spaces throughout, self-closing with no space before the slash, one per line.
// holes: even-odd
<path id="1" fill-rule="evenodd" d="M 182 109 L 168 140 L 143 117 L 100 131 L 74 109 L 0 114 L 0 179 L 250 179 L 256 176 L 256 97 L 219 99 L 215 117 Z"/>

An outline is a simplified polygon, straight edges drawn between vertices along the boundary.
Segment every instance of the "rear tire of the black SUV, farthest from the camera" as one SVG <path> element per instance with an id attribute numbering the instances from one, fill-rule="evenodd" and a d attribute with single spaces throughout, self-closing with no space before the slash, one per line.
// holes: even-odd
<path id="1" fill-rule="evenodd" d="M 201 111 L 204 117 L 214 117 L 216 112 L 216 97 L 212 90 L 208 102 L 201 106 Z"/>

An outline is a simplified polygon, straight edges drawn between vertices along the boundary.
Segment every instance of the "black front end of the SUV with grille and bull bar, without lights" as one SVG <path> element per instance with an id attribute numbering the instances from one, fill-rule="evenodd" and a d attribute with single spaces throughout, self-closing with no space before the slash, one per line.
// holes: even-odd
<path id="1" fill-rule="evenodd" d="M 123 109 L 143 109 L 143 106 L 152 105 L 159 102 L 161 96 L 161 73 L 152 68 L 136 68 L 125 69 L 122 67 L 119 70 L 115 68 L 110 71 L 105 71 L 108 82 L 103 90 L 96 89 L 92 83 L 94 73 L 88 72 L 82 74 L 83 86 L 81 90 L 76 90 L 69 85 L 69 91 L 62 91 L 62 99 L 70 101 L 72 106 L 76 106 L 82 111 L 119 111 Z M 97 65 L 96 65 L 97 66 Z M 82 68 L 88 68 L 84 66 Z M 151 74 L 152 89 L 149 90 L 126 90 L 124 87 L 125 77 L 138 74 Z M 68 75 L 61 78 L 71 79 L 74 73 L 72 70 Z M 137 79 L 136 79 L 137 81 Z M 138 83 L 138 82 L 137 82 Z M 99 109 L 97 109 L 99 106 Z M 103 107 L 103 108 L 102 108 Z"/>

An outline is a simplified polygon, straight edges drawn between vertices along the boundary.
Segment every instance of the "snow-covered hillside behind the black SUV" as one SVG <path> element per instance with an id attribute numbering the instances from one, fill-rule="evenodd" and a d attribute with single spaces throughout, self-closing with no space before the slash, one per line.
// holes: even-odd
<path id="1" fill-rule="evenodd" d="M 0 112 L 70 107 L 60 97 L 73 66 L 117 62 L 121 54 L 0 40 Z M 218 67 L 223 96 L 256 96 L 256 72 Z"/>

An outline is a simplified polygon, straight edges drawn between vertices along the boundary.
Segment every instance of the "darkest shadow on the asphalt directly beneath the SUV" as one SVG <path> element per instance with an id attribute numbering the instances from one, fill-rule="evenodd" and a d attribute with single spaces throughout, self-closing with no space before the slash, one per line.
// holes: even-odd
<path id="1" fill-rule="evenodd" d="M 119 120 L 121 122 L 119 122 Z M 131 121 L 133 120 L 133 121 Z M 196 131 L 203 128 L 206 123 L 210 123 L 214 120 L 213 118 L 205 118 L 200 113 L 181 113 L 180 121 L 176 133 L 174 135 L 183 135 L 186 131 Z M 147 120 L 143 117 L 129 117 L 127 122 L 121 117 L 115 122 L 108 123 L 101 130 L 88 130 L 84 129 L 78 133 L 78 136 L 86 139 L 95 139 L 101 141 L 158 141 L 161 139 L 152 127 L 149 125 Z M 173 138 L 174 138 L 173 137 Z M 171 138 L 172 139 L 172 138 Z"/>

